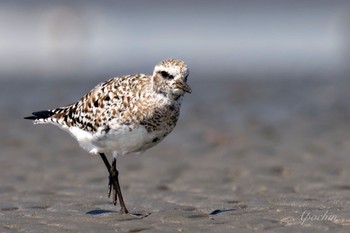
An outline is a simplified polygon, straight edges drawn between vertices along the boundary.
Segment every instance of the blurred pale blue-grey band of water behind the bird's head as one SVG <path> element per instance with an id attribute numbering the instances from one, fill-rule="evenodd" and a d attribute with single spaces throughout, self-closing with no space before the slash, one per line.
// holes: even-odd
<path id="1" fill-rule="evenodd" d="M 1 1 L 0 78 L 108 78 L 185 60 L 192 77 L 343 75 L 348 1 Z"/>

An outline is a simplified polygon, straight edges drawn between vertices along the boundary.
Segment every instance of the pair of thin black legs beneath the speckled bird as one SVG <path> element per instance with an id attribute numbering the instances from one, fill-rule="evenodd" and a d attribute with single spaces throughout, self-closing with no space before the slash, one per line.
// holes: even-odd
<path id="1" fill-rule="evenodd" d="M 108 159 L 106 158 L 106 155 L 104 153 L 100 153 L 100 156 L 105 163 L 107 170 L 109 172 L 109 183 L 108 183 L 108 197 L 111 196 L 111 191 L 113 189 L 113 204 L 117 204 L 117 197 L 119 198 L 120 202 L 120 212 L 123 214 L 129 213 L 128 209 L 125 206 L 122 191 L 120 189 L 119 185 L 119 172 L 117 170 L 117 159 L 114 158 L 112 162 L 112 166 L 109 164 Z"/>

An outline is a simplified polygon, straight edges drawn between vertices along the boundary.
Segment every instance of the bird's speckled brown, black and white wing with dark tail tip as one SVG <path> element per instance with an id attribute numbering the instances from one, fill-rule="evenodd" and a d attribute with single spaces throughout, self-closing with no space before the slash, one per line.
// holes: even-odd
<path id="1" fill-rule="evenodd" d="M 54 123 L 95 132 L 99 127 L 107 127 L 111 119 L 121 120 L 125 112 L 128 112 L 136 92 L 141 91 L 140 83 L 146 78 L 146 75 L 128 75 L 109 79 L 74 104 L 34 112 L 33 116 L 26 119 L 35 120 L 35 123 Z"/>

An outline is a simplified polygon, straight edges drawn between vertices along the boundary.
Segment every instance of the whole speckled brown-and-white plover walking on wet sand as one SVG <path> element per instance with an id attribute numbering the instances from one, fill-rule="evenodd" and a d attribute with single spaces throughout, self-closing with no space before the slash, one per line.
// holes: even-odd
<path id="1" fill-rule="evenodd" d="M 100 83 L 78 102 L 33 112 L 25 119 L 34 124 L 54 124 L 68 131 L 80 146 L 99 154 L 109 172 L 108 197 L 121 213 L 128 213 L 119 185 L 118 155 L 142 153 L 161 142 L 175 127 L 187 85 L 189 69 L 180 60 L 168 59 L 152 75 L 115 77 Z M 105 153 L 113 154 L 112 164 Z"/>

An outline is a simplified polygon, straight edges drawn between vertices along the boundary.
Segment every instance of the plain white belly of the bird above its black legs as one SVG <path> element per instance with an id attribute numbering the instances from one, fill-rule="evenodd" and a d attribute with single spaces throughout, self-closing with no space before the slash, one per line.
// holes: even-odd
<path id="1" fill-rule="evenodd" d="M 156 145 L 163 139 L 161 132 L 148 133 L 143 126 L 130 129 L 128 126 L 120 126 L 95 133 L 72 127 L 68 130 L 79 142 L 80 146 L 90 153 L 114 152 L 120 155 L 139 152 Z M 157 139 L 157 140 L 154 140 Z"/>

